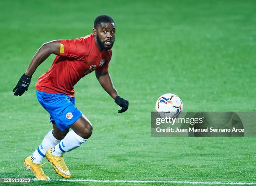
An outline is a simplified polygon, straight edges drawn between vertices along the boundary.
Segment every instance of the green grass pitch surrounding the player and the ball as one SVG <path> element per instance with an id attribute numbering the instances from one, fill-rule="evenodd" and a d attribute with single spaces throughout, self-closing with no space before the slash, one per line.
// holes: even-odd
<path id="1" fill-rule="evenodd" d="M 29 90 L 13 96 L 33 54 L 46 41 L 92 33 L 94 18 L 109 14 L 117 29 L 109 71 L 130 107 L 118 114 L 94 73 L 78 82 L 76 105 L 94 130 L 82 147 L 65 154 L 72 179 L 255 183 L 255 138 L 151 137 L 150 127 L 164 93 L 177 94 L 185 111 L 256 111 L 255 12 L 253 0 L 1 1 L 0 177 L 34 178 L 23 160 L 52 128 L 34 85 L 54 55 L 38 67 Z M 43 169 L 61 179 L 49 163 Z"/>

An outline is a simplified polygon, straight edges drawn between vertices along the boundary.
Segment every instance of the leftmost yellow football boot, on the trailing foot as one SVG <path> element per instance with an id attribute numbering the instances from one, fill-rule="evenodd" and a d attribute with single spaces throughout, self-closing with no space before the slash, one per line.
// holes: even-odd
<path id="1" fill-rule="evenodd" d="M 31 170 L 35 175 L 38 180 L 50 180 L 48 176 L 45 175 L 42 165 L 33 163 L 32 160 L 30 159 L 30 156 L 28 156 L 25 161 L 24 161 L 24 166 Z"/>

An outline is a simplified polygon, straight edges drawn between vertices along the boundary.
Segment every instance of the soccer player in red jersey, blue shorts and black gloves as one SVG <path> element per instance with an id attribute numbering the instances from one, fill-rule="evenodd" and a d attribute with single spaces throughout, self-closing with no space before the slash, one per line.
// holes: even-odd
<path id="1" fill-rule="evenodd" d="M 70 178 L 63 154 L 79 147 L 92 135 L 92 124 L 75 107 L 74 85 L 79 79 L 95 71 L 101 86 L 122 107 L 118 113 L 128 109 L 129 102 L 118 95 L 108 72 L 111 48 L 115 42 L 115 22 L 108 15 L 99 15 L 95 18 L 92 31 L 93 34 L 82 38 L 44 43 L 13 89 L 14 95 L 21 96 L 28 90 L 36 68 L 50 54 L 56 55 L 51 68 L 36 82 L 37 99 L 49 112 L 53 125 L 53 130 L 46 134 L 35 152 L 24 161 L 37 179 L 49 180 L 42 170 L 44 157 L 56 173 Z M 69 128 L 72 130 L 69 131 Z"/>

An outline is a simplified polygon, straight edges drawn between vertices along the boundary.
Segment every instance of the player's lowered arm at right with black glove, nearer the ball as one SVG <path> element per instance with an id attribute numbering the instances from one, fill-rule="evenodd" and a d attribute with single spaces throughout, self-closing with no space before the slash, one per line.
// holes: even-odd
<path id="1" fill-rule="evenodd" d="M 118 110 L 118 113 L 125 112 L 128 109 L 129 102 L 118 95 L 113 82 L 111 80 L 110 74 L 107 72 L 102 72 L 100 69 L 95 71 L 96 78 L 100 82 L 100 85 L 103 89 L 108 92 L 108 94 L 115 99 L 116 104 L 122 107 L 121 110 Z"/>

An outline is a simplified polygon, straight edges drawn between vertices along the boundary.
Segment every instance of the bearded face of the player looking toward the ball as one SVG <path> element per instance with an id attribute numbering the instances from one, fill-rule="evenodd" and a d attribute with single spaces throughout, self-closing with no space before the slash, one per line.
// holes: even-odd
<path id="1" fill-rule="evenodd" d="M 100 23 L 97 29 L 93 30 L 96 34 L 97 43 L 101 49 L 109 50 L 115 42 L 115 23 Z"/>

